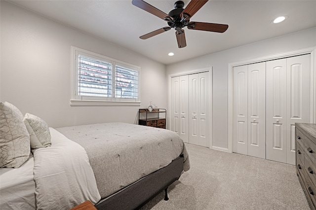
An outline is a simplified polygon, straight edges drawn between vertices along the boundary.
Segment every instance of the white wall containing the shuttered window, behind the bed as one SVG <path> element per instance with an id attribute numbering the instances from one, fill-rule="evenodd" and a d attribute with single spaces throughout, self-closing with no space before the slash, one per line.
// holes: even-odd
<path id="1" fill-rule="evenodd" d="M 1 2 L 0 101 L 40 116 L 50 127 L 134 123 L 139 108 L 167 106 L 165 65 Z M 71 107 L 71 46 L 141 67 L 139 106 Z"/>

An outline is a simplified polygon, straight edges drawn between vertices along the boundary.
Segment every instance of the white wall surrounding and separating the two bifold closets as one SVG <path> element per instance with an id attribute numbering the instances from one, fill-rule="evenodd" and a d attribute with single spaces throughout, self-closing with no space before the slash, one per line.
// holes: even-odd
<path id="1" fill-rule="evenodd" d="M 167 65 L 169 74 L 213 67 L 213 146 L 228 148 L 228 64 L 316 46 L 316 28 Z"/>

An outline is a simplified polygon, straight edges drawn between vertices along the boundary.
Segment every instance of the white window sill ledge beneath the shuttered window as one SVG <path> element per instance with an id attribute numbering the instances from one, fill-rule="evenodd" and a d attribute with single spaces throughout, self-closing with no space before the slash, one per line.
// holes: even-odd
<path id="1" fill-rule="evenodd" d="M 70 100 L 70 106 L 140 106 L 141 102 Z"/>

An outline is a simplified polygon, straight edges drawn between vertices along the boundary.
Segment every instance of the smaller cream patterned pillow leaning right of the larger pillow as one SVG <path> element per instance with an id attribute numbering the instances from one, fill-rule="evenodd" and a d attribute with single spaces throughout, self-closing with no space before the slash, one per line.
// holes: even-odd
<path id="1" fill-rule="evenodd" d="M 51 145 L 48 125 L 40 117 L 26 113 L 23 119 L 31 137 L 31 148 L 37 149 Z"/>

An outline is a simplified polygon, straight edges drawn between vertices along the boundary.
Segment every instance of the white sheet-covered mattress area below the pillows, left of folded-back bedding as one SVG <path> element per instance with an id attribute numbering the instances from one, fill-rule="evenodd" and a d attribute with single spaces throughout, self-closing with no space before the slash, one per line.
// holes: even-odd
<path id="1" fill-rule="evenodd" d="M 0 210 L 34 210 L 34 158 L 20 168 L 0 168 Z"/>

